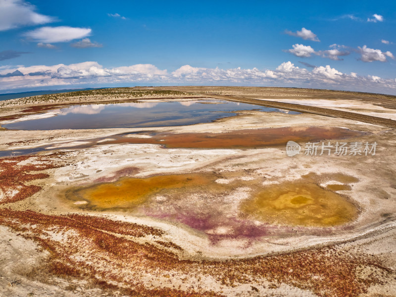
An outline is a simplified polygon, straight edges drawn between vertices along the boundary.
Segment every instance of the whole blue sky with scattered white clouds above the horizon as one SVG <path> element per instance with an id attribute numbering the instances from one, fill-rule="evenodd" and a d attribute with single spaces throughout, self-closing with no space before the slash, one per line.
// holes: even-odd
<path id="1" fill-rule="evenodd" d="M 0 0 L 0 92 L 255 85 L 396 94 L 396 1 Z"/>

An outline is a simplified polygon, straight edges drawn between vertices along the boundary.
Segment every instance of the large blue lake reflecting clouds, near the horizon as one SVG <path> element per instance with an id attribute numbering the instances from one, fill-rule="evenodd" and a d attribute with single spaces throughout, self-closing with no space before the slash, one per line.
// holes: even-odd
<path id="1" fill-rule="evenodd" d="M 218 103 L 218 104 L 207 104 Z M 235 116 L 235 111 L 281 112 L 275 108 L 221 100 L 74 105 L 57 116 L 3 124 L 7 129 L 54 130 L 190 125 Z"/>

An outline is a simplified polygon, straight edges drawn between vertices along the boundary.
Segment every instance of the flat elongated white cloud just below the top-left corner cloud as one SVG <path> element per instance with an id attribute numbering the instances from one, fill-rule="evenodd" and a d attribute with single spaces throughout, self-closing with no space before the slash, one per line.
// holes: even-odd
<path id="1" fill-rule="evenodd" d="M 68 42 L 91 34 L 90 28 L 68 26 L 41 27 L 25 33 L 25 36 L 42 43 Z"/>

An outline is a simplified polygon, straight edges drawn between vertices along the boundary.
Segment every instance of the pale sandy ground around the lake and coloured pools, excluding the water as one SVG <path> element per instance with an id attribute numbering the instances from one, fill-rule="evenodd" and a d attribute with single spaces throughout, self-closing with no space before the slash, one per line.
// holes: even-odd
<path id="1" fill-rule="evenodd" d="M 184 97 L 187 92 L 193 92 L 188 96 L 195 96 L 194 99 L 175 99 L 186 102 L 202 98 L 199 96 L 202 94 L 210 96 L 207 95 L 210 93 L 332 109 L 337 107 L 337 110 L 396 119 L 394 98 L 383 95 L 277 88 L 168 89 L 181 91 Z M 84 100 L 91 101 L 89 98 Z M 69 103 L 76 102 L 65 102 Z M 56 104 L 62 103 L 56 101 Z M 14 113 L 23 110 L 24 107 L 20 105 Z M 4 107 L 0 109 L 0 115 L 12 116 L 12 109 Z M 29 112 L 27 116 L 42 117 L 34 112 Z M 5 123 L 5 120 L 0 124 Z M 307 126 L 343 127 L 363 131 L 366 134 L 355 138 L 323 140 L 332 144 L 338 141 L 377 142 L 376 154 L 311 156 L 301 152 L 289 157 L 284 146 L 167 149 L 155 144 L 100 144 L 100 141 L 114 139 L 118 134 L 137 131 L 227 133 L 285 126 L 296 129 Z M 19 179 L 22 185 L 10 184 L 10 179 L 3 175 L 7 183 L 0 183 L 0 203 L 9 201 L 0 205 L 0 234 L 4 238 L 0 240 L 3 248 L 0 287 L 5 292 L 4 296 L 187 296 L 188 293 L 197 294 L 195 296 L 394 296 L 396 131 L 393 128 L 310 113 L 291 115 L 244 111 L 236 117 L 178 127 L 34 133 L 2 130 L 0 133 L 0 150 L 37 147 L 48 150 L 40 152 L 37 157 L 18 159 L 15 165 L 12 163 L 12 160 L 17 160 L 15 158 L 3 161 L 0 175 L 11 165 L 15 170 L 23 166 L 36 166 L 34 170 L 39 171 L 41 164 L 52 164 L 55 162 L 52 159 L 57 160 L 56 166 L 44 171 L 48 176 Z M 148 137 L 142 133 L 136 135 L 140 139 Z M 290 140 L 293 140 L 292 135 Z M 303 143 L 300 145 L 304 146 Z M 59 153 L 61 155 L 57 157 Z M 28 169 L 24 170 L 29 172 Z M 61 194 L 70 188 L 86 187 L 100 181 L 114 182 L 122 177 L 147 178 L 191 173 L 216 178 L 204 188 L 172 192 L 176 200 L 170 194 L 161 192 L 150 196 L 139 207 L 127 210 L 90 209 L 86 207 L 88 203 L 75 204 Z M 340 174 L 357 179 L 347 182 L 335 178 Z M 351 190 L 337 193 L 357 207 L 358 216 L 347 224 L 333 227 L 290 226 L 282 221 L 268 226 L 241 212 L 242 203 L 250 199 L 257 188 L 265 189 L 274 184 L 281 187 L 286 182 L 301 181 L 322 188 L 328 184 L 348 184 Z M 41 188 L 23 199 L 13 199 L 21 191 L 21 186 L 29 185 Z M 18 217 L 19 212 L 27 210 L 32 213 L 21 213 Z M 144 236 L 132 236 L 125 233 L 124 227 L 114 227 L 114 230 L 109 231 L 105 226 L 112 226 L 113 223 L 106 223 L 95 225 L 97 227 L 90 231 L 91 235 L 86 236 L 87 231 L 79 225 L 57 223 L 67 214 L 89 215 L 88 218 L 80 219 L 81 222 L 86 220 L 87 226 L 94 224 L 90 223 L 89 218 L 105 218 L 109 222 L 116 222 L 114 224 L 117 226 L 135 224 L 128 226 L 136 226 L 136 230 L 152 229 L 143 229 Z M 210 224 L 204 228 L 192 224 L 191 220 L 197 218 L 205 218 Z M 250 232 L 246 231 L 247 228 L 250 228 Z M 111 253 L 107 246 L 94 240 L 99 237 L 97 232 L 101 232 L 100 236 L 103 237 L 126 240 L 118 244 L 129 244 L 128 248 L 139 250 L 140 258 L 146 259 L 146 253 L 151 256 L 147 262 L 142 262 L 139 257 L 124 258 L 127 256 L 122 251 Z M 114 238 L 111 240 L 116 240 Z M 173 260 L 165 260 L 166 257 Z M 222 263 L 229 259 L 233 262 L 224 268 L 222 265 L 225 264 Z M 294 259 L 290 262 L 292 264 L 288 262 L 289 259 Z M 158 268 L 151 267 L 150 261 L 156 263 L 154 266 Z M 254 261 L 276 261 L 276 265 L 268 265 L 287 265 L 289 268 L 280 271 L 274 268 L 270 273 L 262 274 L 261 270 L 250 272 L 251 267 L 267 267 Z M 322 263 L 323 271 L 316 266 L 316 262 Z M 59 269 L 53 268 L 54 263 L 62 263 L 69 267 L 67 269 L 72 267 L 79 273 L 74 275 L 73 270 L 73 273 L 65 276 Z M 169 268 L 162 263 L 168 263 L 166 265 Z M 329 265 L 328 268 L 326 265 Z M 351 267 L 351 270 L 342 270 L 344 266 L 345 269 Z M 66 268 L 62 269 L 67 271 Z M 231 281 L 234 278 L 236 280 Z M 98 280 L 104 281 L 105 285 Z M 125 288 L 132 288 L 135 293 L 128 293 Z M 157 289 L 159 291 L 153 291 Z M 164 293 L 165 289 L 167 293 Z"/>

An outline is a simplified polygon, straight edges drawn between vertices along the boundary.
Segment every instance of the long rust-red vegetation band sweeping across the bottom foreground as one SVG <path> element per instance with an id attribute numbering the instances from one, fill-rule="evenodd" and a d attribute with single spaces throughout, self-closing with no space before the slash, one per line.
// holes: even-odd
<path id="1" fill-rule="evenodd" d="M 374 257 L 337 247 L 245 260 L 181 260 L 168 250 L 134 239 L 161 237 L 159 230 L 92 216 L 50 216 L 2 209 L 0 224 L 48 250 L 53 274 L 84 277 L 102 288 L 124 290 L 129 296 L 220 296 L 208 291 L 214 288 L 201 287 L 204 285 L 200 278 L 210 276 L 223 288 L 262 283 L 265 279 L 272 282 L 271 288 L 286 283 L 318 296 L 354 297 L 374 284 L 382 284 L 393 273 Z M 51 237 L 51 233 L 57 236 Z M 367 273 L 361 273 L 363 269 Z M 186 274 L 191 278 L 187 282 Z M 144 280 L 148 276 L 156 289 L 147 287 Z M 161 283 L 164 278 L 167 281 Z M 187 289 L 166 286 L 177 283 L 188 285 Z"/>

